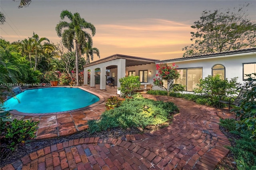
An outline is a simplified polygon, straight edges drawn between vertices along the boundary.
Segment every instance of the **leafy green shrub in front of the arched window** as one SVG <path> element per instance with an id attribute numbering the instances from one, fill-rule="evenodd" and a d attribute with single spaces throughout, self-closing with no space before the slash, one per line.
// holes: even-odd
<path id="1" fill-rule="evenodd" d="M 208 75 L 204 79 L 200 79 L 196 85 L 199 88 L 194 88 L 196 94 L 205 95 L 209 97 L 213 103 L 218 104 L 218 100 L 221 96 L 231 96 L 237 94 L 236 85 L 237 77 L 228 79 L 220 79 L 220 75 L 211 76 Z"/>

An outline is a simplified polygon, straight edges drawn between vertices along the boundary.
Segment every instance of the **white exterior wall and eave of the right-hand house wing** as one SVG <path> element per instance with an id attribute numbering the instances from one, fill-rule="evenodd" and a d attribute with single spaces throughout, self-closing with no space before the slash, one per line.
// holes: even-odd
<path id="1" fill-rule="evenodd" d="M 171 65 L 173 62 L 166 63 Z M 221 64 L 225 67 L 225 77 L 228 80 L 238 77 L 237 81 L 244 83 L 243 63 L 256 63 L 256 53 L 174 61 L 174 63 L 179 66 L 179 69 L 202 67 L 203 79 L 208 75 L 212 75 L 212 67 L 214 65 Z"/>

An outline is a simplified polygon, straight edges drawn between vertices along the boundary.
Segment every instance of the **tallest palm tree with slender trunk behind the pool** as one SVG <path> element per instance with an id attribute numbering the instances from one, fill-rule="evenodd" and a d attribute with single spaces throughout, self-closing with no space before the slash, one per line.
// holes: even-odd
<path id="1" fill-rule="evenodd" d="M 59 37 L 62 38 L 63 45 L 71 52 L 74 49 L 74 42 L 76 45 L 76 85 L 79 86 L 78 77 L 78 57 L 84 52 L 83 47 L 86 46 L 86 42 L 92 42 L 91 35 L 83 29 L 89 29 L 92 32 L 92 36 L 95 35 L 96 29 L 93 24 L 86 22 L 84 18 L 80 17 L 79 13 L 74 15 L 68 10 L 63 10 L 60 13 L 60 19 L 64 20 L 65 16 L 70 20 L 70 23 L 66 21 L 60 21 L 56 25 L 56 32 Z M 67 28 L 62 33 L 62 28 Z"/>

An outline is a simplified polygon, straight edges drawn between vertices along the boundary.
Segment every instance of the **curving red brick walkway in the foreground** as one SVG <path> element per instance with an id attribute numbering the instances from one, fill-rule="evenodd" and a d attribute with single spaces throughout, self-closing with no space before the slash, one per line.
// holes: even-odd
<path id="1" fill-rule="evenodd" d="M 230 142 L 219 130 L 219 116 L 229 115 L 184 99 L 144 94 L 171 101 L 180 113 L 172 124 L 150 134 L 114 138 L 80 138 L 25 156 L 2 170 L 214 170 L 226 156 Z"/>

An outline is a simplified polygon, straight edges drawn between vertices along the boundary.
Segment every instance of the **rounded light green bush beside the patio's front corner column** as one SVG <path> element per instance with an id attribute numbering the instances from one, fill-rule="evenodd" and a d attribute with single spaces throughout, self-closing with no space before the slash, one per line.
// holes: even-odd
<path id="1" fill-rule="evenodd" d="M 120 90 L 121 94 L 125 96 L 131 96 L 136 93 L 136 91 L 140 88 L 140 81 L 139 76 L 127 76 L 122 77 L 119 79 L 120 87 L 118 87 L 118 90 Z"/>

